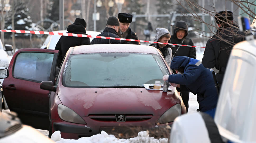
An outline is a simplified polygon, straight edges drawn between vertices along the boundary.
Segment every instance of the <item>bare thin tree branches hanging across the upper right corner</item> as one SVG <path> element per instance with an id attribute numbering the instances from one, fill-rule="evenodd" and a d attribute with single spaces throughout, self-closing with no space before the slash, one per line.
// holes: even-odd
<path id="1" fill-rule="evenodd" d="M 209 7 L 205 7 L 202 4 L 199 4 L 198 1 L 194 1 L 194 0 L 176 0 L 177 4 L 179 6 L 181 6 L 183 9 L 185 9 L 185 12 L 180 12 L 182 13 L 183 16 L 185 16 L 187 19 L 191 19 L 195 22 L 201 23 L 203 26 L 206 26 L 209 30 L 203 30 L 203 28 L 196 28 L 195 30 L 202 32 L 202 36 L 207 37 L 207 38 L 211 38 L 211 36 L 213 34 L 216 34 L 217 29 L 219 29 L 218 25 L 215 22 L 215 18 L 216 14 L 218 11 L 216 11 L 216 5 L 214 3 L 214 0 L 211 0 L 212 3 L 208 3 L 207 5 Z M 255 15 L 255 9 L 252 9 L 251 6 L 256 6 L 255 3 L 249 2 L 249 0 L 243 0 L 243 1 L 239 1 L 239 0 L 225 0 L 226 6 L 225 8 L 223 8 L 222 10 L 227 10 L 227 3 L 233 3 L 237 9 L 240 9 L 240 11 L 242 11 L 242 13 L 240 12 L 240 14 L 247 14 L 251 19 L 254 19 Z M 236 9 L 236 10 L 237 10 Z M 212 19 L 211 22 L 206 22 L 205 19 L 202 16 L 198 15 L 198 11 L 199 13 L 204 13 L 205 16 L 208 16 Z M 234 15 L 235 16 L 235 15 Z M 237 24 L 235 21 L 234 22 L 225 22 L 224 23 L 228 24 L 230 27 L 235 27 L 235 24 Z M 243 35 L 239 35 L 233 31 L 229 31 L 231 33 L 234 34 L 235 37 L 241 37 Z M 209 33 L 207 35 L 211 35 L 211 36 L 207 36 L 203 33 Z M 229 44 L 234 44 L 234 43 L 230 43 L 230 41 L 226 40 L 226 39 L 222 39 L 220 36 L 218 36 L 218 38 L 220 38 L 221 40 L 229 43 Z"/>

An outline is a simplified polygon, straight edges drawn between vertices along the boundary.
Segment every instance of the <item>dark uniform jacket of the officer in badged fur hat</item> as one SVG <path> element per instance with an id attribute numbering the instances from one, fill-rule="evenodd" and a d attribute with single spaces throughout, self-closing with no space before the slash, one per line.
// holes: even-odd
<path id="1" fill-rule="evenodd" d="M 132 32 L 131 28 L 128 27 L 128 29 L 126 30 L 126 32 L 124 32 L 122 35 L 121 35 L 121 31 L 119 30 L 117 32 L 118 36 L 120 38 L 126 38 L 126 39 L 135 39 L 135 40 L 139 40 L 138 37 L 137 37 L 137 34 Z M 122 44 L 137 44 L 137 45 L 140 45 L 140 42 L 135 42 L 135 41 L 125 41 L 125 40 L 121 40 L 121 43 Z"/>

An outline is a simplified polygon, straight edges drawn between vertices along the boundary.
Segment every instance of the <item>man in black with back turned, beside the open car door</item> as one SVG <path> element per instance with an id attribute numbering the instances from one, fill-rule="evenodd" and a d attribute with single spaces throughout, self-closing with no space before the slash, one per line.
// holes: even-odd
<path id="1" fill-rule="evenodd" d="M 86 34 L 86 22 L 84 19 L 76 18 L 75 22 L 71 25 L 68 25 L 68 33 L 75 34 Z M 87 35 L 87 34 L 86 34 Z M 71 36 L 61 36 L 60 40 L 56 44 L 55 50 L 59 50 L 59 57 L 57 66 L 60 67 L 63 58 L 65 57 L 68 49 L 70 47 L 75 47 L 79 45 L 90 45 L 90 39 L 87 37 L 71 37 Z"/>

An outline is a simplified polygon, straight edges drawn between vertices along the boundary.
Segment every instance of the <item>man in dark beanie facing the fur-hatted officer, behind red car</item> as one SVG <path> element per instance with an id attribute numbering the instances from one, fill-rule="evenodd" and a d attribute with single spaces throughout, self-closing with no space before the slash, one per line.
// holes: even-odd
<path id="1" fill-rule="evenodd" d="M 98 36 L 119 38 L 117 35 L 120 22 L 117 17 L 111 16 L 107 20 L 107 26 Z M 121 40 L 93 38 L 92 44 L 121 44 Z"/>

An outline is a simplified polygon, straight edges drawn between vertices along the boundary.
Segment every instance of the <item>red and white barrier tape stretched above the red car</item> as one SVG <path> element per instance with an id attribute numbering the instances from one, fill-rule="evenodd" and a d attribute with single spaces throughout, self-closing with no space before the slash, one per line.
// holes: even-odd
<path id="1" fill-rule="evenodd" d="M 161 43 L 161 42 L 153 42 L 153 41 L 125 39 L 125 38 L 114 38 L 114 37 L 104 37 L 104 36 L 93 36 L 93 35 L 86 35 L 86 34 L 74 34 L 74 33 L 63 33 L 63 32 L 30 31 L 30 30 L 0 30 L 0 32 L 27 33 L 27 34 L 45 34 L 45 35 L 61 35 L 61 36 L 72 36 L 72 37 L 88 37 L 88 38 L 100 38 L 100 39 L 113 39 L 113 40 L 125 40 L 125 41 L 135 41 L 135 42 L 168 44 L 168 45 L 177 45 L 177 46 L 186 46 L 186 47 L 199 47 L 199 46 L 172 44 L 172 43 Z M 200 48 L 205 48 L 205 47 L 200 47 Z"/>

